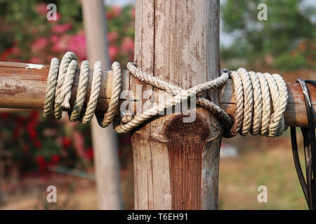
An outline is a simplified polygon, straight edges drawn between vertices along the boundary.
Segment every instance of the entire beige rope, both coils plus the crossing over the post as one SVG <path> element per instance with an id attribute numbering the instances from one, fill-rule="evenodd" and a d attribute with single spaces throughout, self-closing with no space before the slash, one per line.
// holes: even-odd
<path id="1" fill-rule="evenodd" d="M 67 52 L 62 57 L 61 62 L 57 58 L 51 60 L 44 102 L 44 117 L 53 113 L 55 119 L 59 120 L 62 116 L 62 108 L 70 109 L 71 88 L 77 66 L 77 57 L 74 52 Z M 80 120 L 81 123 L 89 123 L 96 112 L 102 78 L 102 64 L 100 61 L 94 64 L 91 93 L 84 108 L 88 85 L 88 67 L 88 61 L 81 63 L 77 97 L 70 113 L 71 121 Z M 201 92 L 224 85 L 228 78 L 232 78 L 235 86 L 236 109 L 234 118 L 231 118 L 220 106 L 208 99 L 197 96 L 196 101 L 199 106 L 211 111 L 221 121 L 224 126 L 225 137 L 233 137 L 238 132 L 242 135 L 250 132 L 254 135 L 275 137 L 282 134 L 284 130 L 283 113 L 287 106 L 287 85 L 278 74 L 247 72 L 246 69 L 242 68 L 237 71 L 223 69 L 218 78 L 196 85 L 189 90 L 182 90 L 180 87 L 141 71 L 132 62 L 127 64 L 127 69 L 142 82 L 164 90 L 172 94 L 173 97 L 136 116 L 124 116 L 120 123 L 114 127 L 114 130 L 119 133 L 129 132 L 169 107 L 180 104 L 190 97 L 196 97 Z M 118 62 L 112 64 L 112 70 L 114 76 L 109 108 L 103 116 L 96 113 L 101 127 L 107 127 L 113 122 L 119 105 L 121 68 Z M 270 102 L 272 102 L 272 112 Z"/>

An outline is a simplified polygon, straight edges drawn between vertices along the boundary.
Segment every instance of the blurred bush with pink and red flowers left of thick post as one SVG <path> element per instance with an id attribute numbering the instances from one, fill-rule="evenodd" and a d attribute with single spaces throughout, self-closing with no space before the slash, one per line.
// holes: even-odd
<path id="1" fill-rule="evenodd" d="M 0 1 L 1 61 L 49 64 L 70 50 L 86 59 L 86 38 L 79 1 L 55 1 L 57 20 L 46 19 L 44 1 Z M 133 59 L 134 16 L 132 6 L 107 7 L 107 38 L 111 61 Z M 90 128 L 41 118 L 39 111 L 0 113 L 0 142 L 12 152 L 21 171 L 45 172 L 48 167 L 89 165 L 93 161 Z M 6 127 L 6 128 L 4 128 Z M 126 142 L 123 136 L 122 142 Z M 120 152 L 120 155 L 122 153 Z"/>

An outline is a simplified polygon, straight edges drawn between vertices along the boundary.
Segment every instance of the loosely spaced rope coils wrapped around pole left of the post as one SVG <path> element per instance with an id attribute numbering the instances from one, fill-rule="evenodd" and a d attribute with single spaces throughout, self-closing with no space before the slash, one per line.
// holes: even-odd
<path id="1" fill-rule="evenodd" d="M 61 62 L 59 62 L 57 58 L 51 60 L 44 101 L 44 117 L 48 117 L 53 113 L 55 119 L 59 120 L 62 116 L 62 108 L 70 109 L 71 89 L 74 74 L 77 72 L 77 66 L 77 56 L 74 52 L 67 52 L 64 57 L 62 57 Z M 102 127 L 106 127 L 112 123 L 114 113 L 117 110 L 119 103 L 119 94 L 121 93 L 121 67 L 118 62 L 112 64 L 112 70 L 115 81 L 113 83 L 113 92 L 109 109 L 102 120 L 98 117 L 98 121 L 102 124 Z M 84 109 L 84 99 L 86 98 L 89 76 L 89 63 L 88 61 L 83 61 L 81 63 L 77 96 L 70 113 L 71 121 L 80 120 L 83 124 L 91 122 L 93 114 L 96 112 L 102 75 L 102 63 L 97 61 L 94 64 L 90 97 L 87 106 Z"/>

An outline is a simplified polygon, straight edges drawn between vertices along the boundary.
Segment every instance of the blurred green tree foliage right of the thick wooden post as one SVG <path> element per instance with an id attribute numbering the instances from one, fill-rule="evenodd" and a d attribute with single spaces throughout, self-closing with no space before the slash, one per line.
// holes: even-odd
<path id="1" fill-rule="evenodd" d="M 235 43 L 226 48 L 222 57 L 246 57 L 249 61 L 271 55 L 275 58 L 275 66 L 283 69 L 312 66 L 308 63 L 305 52 L 300 56 L 291 57 L 306 41 L 316 44 L 316 9 L 303 8 L 302 0 L 227 0 L 221 6 L 223 28 L 231 34 L 238 34 Z M 259 21 L 257 9 L 259 3 L 268 7 L 268 20 Z M 284 55 L 288 55 L 285 57 Z M 315 56 L 315 55 L 314 55 Z M 280 57 L 278 59 L 278 57 Z M 285 63 L 294 62 L 291 66 Z M 316 59 L 315 57 L 313 58 Z M 303 62 L 305 61 L 305 62 Z M 287 68 L 285 66 L 288 66 Z"/>

